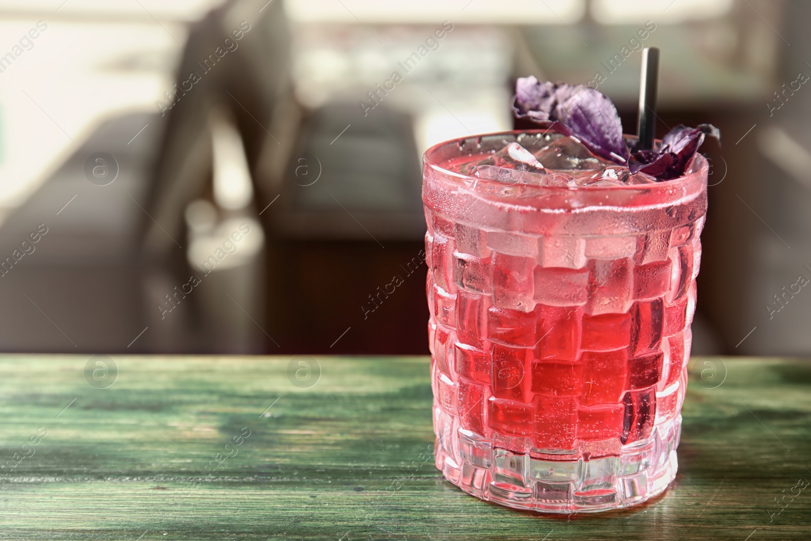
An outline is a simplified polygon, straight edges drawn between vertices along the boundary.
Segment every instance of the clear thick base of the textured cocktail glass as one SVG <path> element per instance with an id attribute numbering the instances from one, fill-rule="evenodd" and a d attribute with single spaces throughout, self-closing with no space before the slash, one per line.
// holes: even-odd
<path id="1" fill-rule="evenodd" d="M 620 447 L 618 455 L 595 457 L 599 445 L 594 442 L 563 454 L 513 453 L 457 428 L 437 435 L 436 467 L 482 500 L 539 513 L 594 513 L 637 505 L 663 492 L 676 477 L 680 432 L 679 415 L 659 424 L 650 438 Z"/>

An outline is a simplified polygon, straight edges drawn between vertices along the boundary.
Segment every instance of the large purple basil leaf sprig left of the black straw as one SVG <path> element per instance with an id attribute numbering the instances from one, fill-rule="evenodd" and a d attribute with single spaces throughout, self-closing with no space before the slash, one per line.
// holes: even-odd
<path id="1" fill-rule="evenodd" d="M 622 165 L 628 161 L 620 115 L 610 99 L 592 88 L 522 77 L 515 85 L 513 111 L 534 122 L 560 122 L 599 157 Z"/>

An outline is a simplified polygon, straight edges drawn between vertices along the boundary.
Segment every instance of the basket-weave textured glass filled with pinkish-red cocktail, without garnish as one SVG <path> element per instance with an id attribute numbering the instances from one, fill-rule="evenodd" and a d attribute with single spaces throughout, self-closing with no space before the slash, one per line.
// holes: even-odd
<path id="1" fill-rule="evenodd" d="M 425 154 L 436 466 L 510 507 L 626 507 L 676 474 L 707 163 L 627 187 L 453 172 L 536 133 Z"/>

